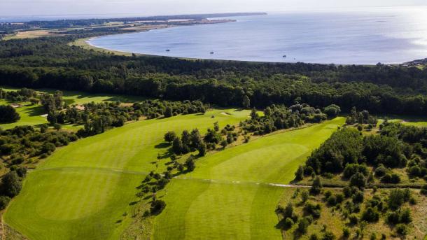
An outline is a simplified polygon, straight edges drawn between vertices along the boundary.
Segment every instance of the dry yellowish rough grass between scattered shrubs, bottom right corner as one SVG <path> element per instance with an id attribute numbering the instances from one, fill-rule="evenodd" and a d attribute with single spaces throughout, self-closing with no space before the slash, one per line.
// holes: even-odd
<path id="1" fill-rule="evenodd" d="M 288 202 L 291 202 L 294 206 L 294 211 L 297 213 L 300 218 L 304 216 L 304 212 L 302 211 L 302 203 L 300 196 L 293 198 L 296 188 L 286 188 L 284 194 L 282 195 L 279 205 L 286 207 Z M 302 192 L 304 189 L 300 189 Z M 342 192 L 340 189 L 333 188 L 323 188 L 323 191 L 330 190 L 333 193 Z M 376 195 L 384 196 L 384 199 L 388 196 L 389 189 L 379 189 L 375 193 Z M 412 196 L 416 199 L 417 204 L 405 204 L 405 207 L 409 207 L 412 211 L 412 223 L 409 224 L 409 234 L 405 239 L 423 239 L 427 232 L 426 225 L 426 213 L 427 213 L 427 202 L 426 197 L 419 194 L 419 190 L 411 190 Z M 374 192 L 372 189 L 365 190 L 365 202 L 372 198 Z M 297 234 L 295 232 L 297 225 L 293 225 L 288 230 L 282 230 L 283 239 L 309 239 L 311 234 L 317 234 L 318 237 L 321 237 L 323 232 L 330 231 L 335 234 L 337 239 L 345 239 L 343 237 L 342 229 L 343 227 L 347 227 L 350 230 L 351 236 L 349 239 L 353 239 L 355 237 L 356 227 L 349 224 L 349 220 L 345 220 L 341 213 L 335 209 L 335 207 L 328 206 L 325 202 L 323 195 L 318 196 L 310 196 L 309 200 L 307 200 L 314 204 L 321 204 L 321 217 L 314 220 L 314 223 L 309 225 L 307 228 L 306 234 Z M 345 201 L 344 201 L 345 202 Z M 344 204 L 341 204 L 344 207 Z M 364 208 L 360 209 L 360 214 L 364 211 Z M 282 220 L 283 217 L 279 214 L 279 220 Z M 282 226 L 283 227 L 283 226 Z M 381 234 L 386 234 L 387 239 L 400 239 L 401 236 L 395 234 L 395 231 L 392 228 L 393 226 L 388 225 L 384 221 L 384 217 L 380 217 L 377 223 L 365 223 L 363 227 L 363 239 L 370 239 L 371 235 L 376 234 L 377 239 L 381 239 Z"/>

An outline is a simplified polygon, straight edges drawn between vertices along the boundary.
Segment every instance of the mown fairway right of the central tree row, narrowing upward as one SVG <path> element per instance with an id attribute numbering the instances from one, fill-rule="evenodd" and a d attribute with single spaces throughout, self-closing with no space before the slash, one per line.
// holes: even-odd
<path id="1" fill-rule="evenodd" d="M 311 150 L 344 118 L 266 136 L 208 155 L 196 170 L 172 180 L 155 239 L 280 239 L 274 213 L 283 188 Z"/>

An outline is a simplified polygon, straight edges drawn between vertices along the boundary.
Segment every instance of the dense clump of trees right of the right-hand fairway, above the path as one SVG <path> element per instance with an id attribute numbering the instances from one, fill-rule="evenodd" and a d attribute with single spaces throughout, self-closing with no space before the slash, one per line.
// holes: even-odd
<path id="1" fill-rule="evenodd" d="M 405 167 L 409 177 L 427 175 L 427 128 L 385 121 L 379 134 L 363 136 L 353 127 L 339 129 L 308 157 L 297 180 L 310 174 L 340 174 L 351 185 L 365 186 L 377 177 L 400 183 L 393 169 Z M 371 173 L 367 166 L 374 167 Z"/>

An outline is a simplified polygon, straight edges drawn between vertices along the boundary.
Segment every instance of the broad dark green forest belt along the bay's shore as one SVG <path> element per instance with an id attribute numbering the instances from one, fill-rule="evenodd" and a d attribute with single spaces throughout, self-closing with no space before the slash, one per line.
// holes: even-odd
<path id="1" fill-rule="evenodd" d="M 123 57 L 66 43 L 82 35 L 0 42 L 0 84 L 201 100 L 265 108 L 305 102 L 425 115 L 427 69 Z M 248 104 L 249 103 L 249 104 Z"/>

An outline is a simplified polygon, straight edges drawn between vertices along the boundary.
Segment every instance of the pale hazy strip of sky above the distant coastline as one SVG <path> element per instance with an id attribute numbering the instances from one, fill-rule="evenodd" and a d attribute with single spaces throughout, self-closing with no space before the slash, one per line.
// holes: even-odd
<path id="1" fill-rule="evenodd" d="M 0 18 L 25 15 L 148 16 L 421 5 L 427 5 L 427 0 L 0 0 Z"/>

